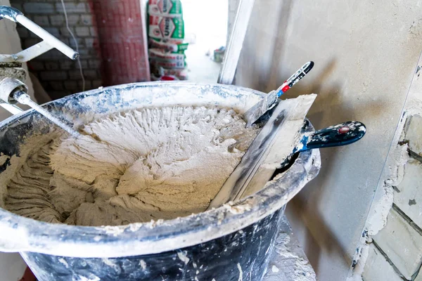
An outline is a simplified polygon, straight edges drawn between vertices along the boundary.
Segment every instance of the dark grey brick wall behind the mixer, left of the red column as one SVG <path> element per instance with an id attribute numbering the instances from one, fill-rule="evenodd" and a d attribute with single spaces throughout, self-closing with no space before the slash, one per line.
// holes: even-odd
<path id="1" fill-rule="evenodd" d="M 66 25 L 61 1 L 54 0 L 12 0 L 11 6 L 22 11 L 46 31 L 58 37 L 60 41 L 76 48 L 75 41 L 70 36 Z M 70 30 L 79 45 L 79 54 L 84 77 L 85 90 L 94 89 L 103 84 L 101 80 L 101 56 L 98 52 L 98 36 L 93 26 L 93 17 L 88 1 L 65 0 Z M 41 41 L 39 37 L 25 27 L 17 27 L 23 48 Z M 40 80 L 41 85 L 51 98 L 62 98 L 70 93 L 82 91 L 82 77 L 77 61 L 72 61 L 57 50 L 51 50 L 28 63 Z"/>

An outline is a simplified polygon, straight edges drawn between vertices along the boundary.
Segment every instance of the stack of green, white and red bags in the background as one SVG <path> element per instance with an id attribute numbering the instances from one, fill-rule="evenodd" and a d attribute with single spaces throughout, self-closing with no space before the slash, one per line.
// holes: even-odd
<path id="1" fill-rule="evenodd" d="M 180 0 L 148 0 L 148 55 L 152 80 L 186 80 Z"/>

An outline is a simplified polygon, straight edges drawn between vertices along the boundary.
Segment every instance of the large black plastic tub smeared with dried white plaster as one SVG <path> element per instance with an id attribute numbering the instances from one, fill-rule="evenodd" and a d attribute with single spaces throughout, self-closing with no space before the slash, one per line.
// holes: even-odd
<path id="1" fill-rule="evenodd" d="M 110 112 L 146 106 L 219 105 L 243 113 L 262 95 L 237 86 L 158 82 L 87 91 L 44 106 L 77 126 Z M 6 119 L 0 123 L 0 152 L 19 155 L 25 136 L 50 128 L 32 110 Z M 260 280 L 284 206 L 319 167 L 319 150 L 302 152 L 255 195 L 168 221 L 67 226 L 0 209 L 0 251 L 19 251 L 40 281 Z M 0 188 L 6 192 L 6 186 Z"/>

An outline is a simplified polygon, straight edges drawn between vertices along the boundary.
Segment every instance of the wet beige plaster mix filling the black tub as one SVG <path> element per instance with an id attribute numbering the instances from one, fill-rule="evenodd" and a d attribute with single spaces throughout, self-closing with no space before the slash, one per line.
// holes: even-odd
<path id="1" fill-rule="evenodd" d="M 50 223 L 117 226 L 204 211 L 257 128 L 217 107 L 129 110 L 28 138 L 0 175 L 4 207 Z M 94 136 L 94 137 L 93 137 Z"/>

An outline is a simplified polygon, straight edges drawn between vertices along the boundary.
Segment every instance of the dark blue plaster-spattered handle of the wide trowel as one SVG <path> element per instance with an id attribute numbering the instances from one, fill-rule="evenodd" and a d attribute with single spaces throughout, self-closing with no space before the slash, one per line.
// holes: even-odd
<path id="1" fill-rule="evenodd" d="M 296 151 L 311 150 L 315 148 L 331 148 L 333 146 L 349 145 L 359 141 L 366 132 L 366 127 L 361 122 L 348 121 L 313 133 L 305 133 Z"/>

